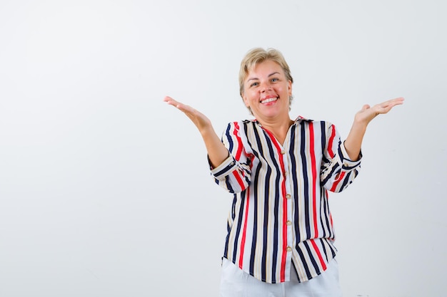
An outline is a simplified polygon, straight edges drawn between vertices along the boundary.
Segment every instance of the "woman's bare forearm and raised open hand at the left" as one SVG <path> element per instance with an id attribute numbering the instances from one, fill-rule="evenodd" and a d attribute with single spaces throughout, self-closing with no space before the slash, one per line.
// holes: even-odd
<path id="1" fill-rule="evenodd" d="M 228 158 L 229 152 L 214 131 L 209 118 L 191 106 L 179 103 L 171 97 L 166 96 L 164 101 L 181 110 L 196 125 L 205 142 L 211 165 L 214 167 L 221 165 Z"/>

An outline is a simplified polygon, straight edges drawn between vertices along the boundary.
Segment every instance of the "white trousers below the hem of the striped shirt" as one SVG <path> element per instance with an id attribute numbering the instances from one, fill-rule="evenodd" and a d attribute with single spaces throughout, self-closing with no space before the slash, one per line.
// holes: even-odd
<path id="1" fill-rule="evenodd" d="M 294 268 L 292 268 L 294 269 Z M 291 276 L 295 276 L 291 271 Z M 233 262 L 223 259 L 221 276 L 221 297 L 341 297 L 338 281 L 338 264 L 333 259 L 326 271 L 310 281 L 291 281 L 284 283 L 265 283 L 243 272 Z"/>

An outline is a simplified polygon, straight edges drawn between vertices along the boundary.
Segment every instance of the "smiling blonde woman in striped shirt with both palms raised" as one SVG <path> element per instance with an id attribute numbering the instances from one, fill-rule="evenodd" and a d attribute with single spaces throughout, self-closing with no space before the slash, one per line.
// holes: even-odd
<path id="1" fill-rule="evenodd" d="M 216 182 L 233 193 L 221 296 L 341 296 L 327 193 L 357 176 L 368 123 L 403 98 L 364 105 L 344 142 L 331 123 L 289 115 L 290 69 L 275 49 L 241 61 L 240 95 L 255 120 L 211 121 L 173 98 L 201 132 Z"/>

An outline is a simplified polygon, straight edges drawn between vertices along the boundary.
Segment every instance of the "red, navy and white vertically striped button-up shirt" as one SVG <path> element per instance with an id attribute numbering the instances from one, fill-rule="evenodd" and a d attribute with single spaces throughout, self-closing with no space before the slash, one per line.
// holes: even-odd
<path id="1" fill-rule="evenodd" d="M 230 155 L 211 167 L 233 193 L 224 257 L 267 283 L 326 270 L 336 255 L 328 191 L 346 189 L 360 170 L 331 123 L 300 117 L 287 133 L 281 145 L 256 120 L 229 123 L 222 142 Z"/>

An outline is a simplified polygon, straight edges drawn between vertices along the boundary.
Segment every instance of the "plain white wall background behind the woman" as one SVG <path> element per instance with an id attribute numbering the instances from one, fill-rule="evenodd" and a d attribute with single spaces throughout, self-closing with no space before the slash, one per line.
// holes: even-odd
<path id="1" fill-rule="evenodd" d="M 291 66 L 291 116 L 348 134 L 362 171 L 331 194 L 344 296 L 445 296 L 447 4 L 442 0 L 0 1 L 0 296 L 217 296 L 231 194 L 199 133 L 249 118 L 253 47 Z"/>

